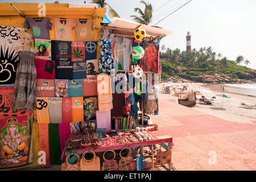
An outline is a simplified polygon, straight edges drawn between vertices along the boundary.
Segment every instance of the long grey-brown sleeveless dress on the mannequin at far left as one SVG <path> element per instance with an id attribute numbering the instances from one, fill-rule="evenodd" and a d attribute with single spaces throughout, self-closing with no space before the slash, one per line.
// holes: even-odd
<path id="1" fill-rule="evenodd" d="M 35 53 L 30 51 L 18 52 L 19 64 L 16 69 L 15 95 L 13 110 L 35 110 L 36 109 L 36 68 Z"/>

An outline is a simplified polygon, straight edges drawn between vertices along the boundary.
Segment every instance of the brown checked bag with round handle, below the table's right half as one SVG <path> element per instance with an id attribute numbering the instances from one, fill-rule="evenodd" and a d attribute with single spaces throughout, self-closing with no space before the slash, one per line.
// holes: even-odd
<path id="1" fill-rule="evenodd" d="M 129 150 L 129 154 L 126 158 L 124 158 L 122 156 L 122 151 L 124 149 L 128 149 Z M 134 171 L 136 169 L 136 164 L 133 160 L 133 158 L 131 157 L 131 149 L 130 148 L 123 148 L 120 152 L 119 155 L 121 157 L 121 159 L 119 160 L 119 171 Z"/>

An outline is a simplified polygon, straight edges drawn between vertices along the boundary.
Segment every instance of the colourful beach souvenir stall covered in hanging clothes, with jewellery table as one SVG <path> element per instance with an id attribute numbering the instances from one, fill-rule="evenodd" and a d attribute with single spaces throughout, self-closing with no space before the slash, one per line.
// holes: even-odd
<path id="1" fill-rule="evenodd" d="M 148 73 L 159 73 L 159 40 L 170 31 L 115 24 L 127 24 L 122 19 L 105 24 L 106 9 L 96 4 L 0 5 L 0 169 L 61 164 L 63 170 L 108 170 L 117 163 L 101 165 L 95 152 L 143 146 L 151 146 L 154 169 L 152 147 L 161 143 L 170 150 L 158 151 L 158 163 L 171 164 L 172 138 L 154 131 L 145 115 L 158 114 L 158 82 L 150 86 Z M 138 27 L 147 32 L 144 43 L 131 36 Z M 131 56 L 137 45 L 144 47 L 141 59 Z M 118 86 L 127 92 L 113 92 Z M 137 167 L 120 152 L 111 169 L 142 169 L 141 151 Z"/>

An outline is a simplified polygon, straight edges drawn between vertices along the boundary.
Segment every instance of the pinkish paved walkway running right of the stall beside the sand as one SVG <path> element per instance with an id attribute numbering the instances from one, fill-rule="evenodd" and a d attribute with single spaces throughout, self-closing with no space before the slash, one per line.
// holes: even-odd
<path id="1" fill-rule="evenodd" d="M 174 139 L 176 170 L 256 170 L 256 125 L 229 122 L 171 101 L 160 93 L 159 130 Z"/>

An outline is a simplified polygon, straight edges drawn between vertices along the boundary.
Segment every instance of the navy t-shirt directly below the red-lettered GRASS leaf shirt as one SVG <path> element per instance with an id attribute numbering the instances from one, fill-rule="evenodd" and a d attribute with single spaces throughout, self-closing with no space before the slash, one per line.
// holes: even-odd
<path id="1" fill-rule="evenodd" d="M 73 78 L 86 78 L 86 61 L 73 62 Z"/>

